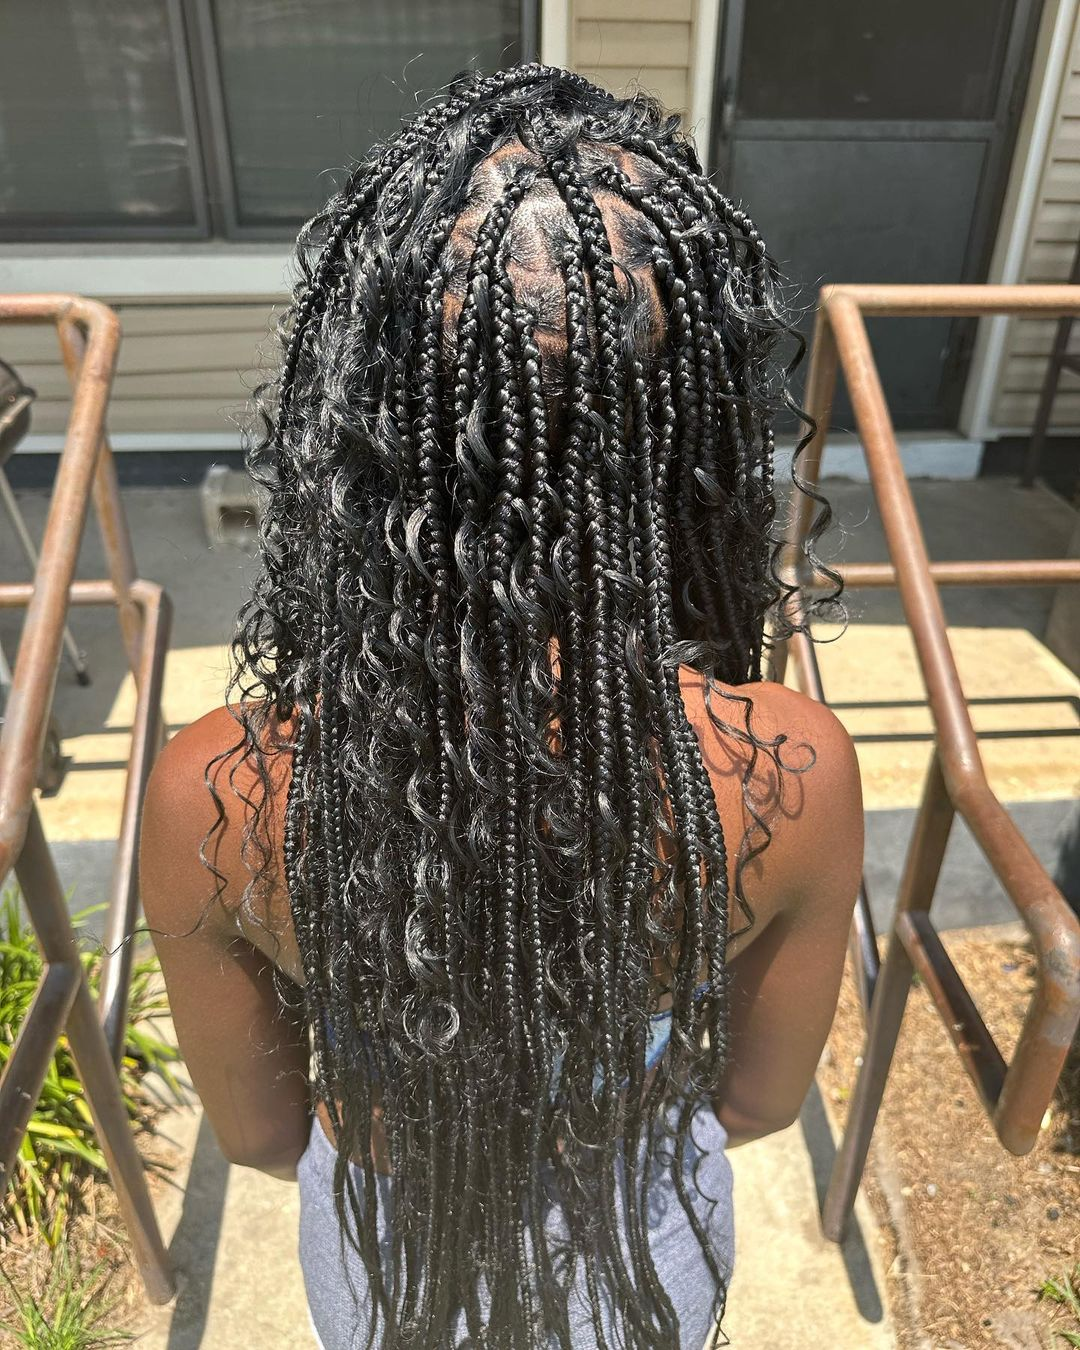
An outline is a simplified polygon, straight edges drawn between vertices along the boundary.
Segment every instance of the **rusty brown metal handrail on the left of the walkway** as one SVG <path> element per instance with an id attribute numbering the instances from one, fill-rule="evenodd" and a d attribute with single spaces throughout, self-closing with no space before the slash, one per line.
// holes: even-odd
<path id="1" fill-rule="evenodd" d="M 0 1079 L 0 1188 L 11 1177 L 42 1081 L 66 1031 L 86 1089 L 101 1152 L 127 1223 L 135 1261 L 157 1303 L 173 1292 L 120 1096 L 123 1049 L 138 910 L 136 850 L 150 767 L 161 744 L 161 690 L 170 605 L 159 586 L 135 578 L 116 466 L 105 440 L 120 323 L 105 305 L 78 296 L 0 296 L 0 323 L 53 323 L 72 381 L 72 410 L 57 470 L 40 559 L 32 585 L 0 585 L 0 608 L 26 608 L 5 720 L 0 733 L 0 883 L 14 869 L 45 957 L 45 975 Z M 108 580 L 76 580 L 76 562 L 93 498 L 105 544 Z M 116 605 L 138 703 L 105 926 L 107 957 L 94 1008 L 53 855 L 34 801 L 34 784 L 53 703 L 69 605 Z"/>

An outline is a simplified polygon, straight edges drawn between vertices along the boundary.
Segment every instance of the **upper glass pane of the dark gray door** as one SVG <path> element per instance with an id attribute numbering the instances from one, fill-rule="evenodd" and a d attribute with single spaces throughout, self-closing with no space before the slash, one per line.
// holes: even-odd
<path id="1" fill-rule="evenodd" d="M 744 117 L 994 116 L 1015 0 L 747 0 Z"/>

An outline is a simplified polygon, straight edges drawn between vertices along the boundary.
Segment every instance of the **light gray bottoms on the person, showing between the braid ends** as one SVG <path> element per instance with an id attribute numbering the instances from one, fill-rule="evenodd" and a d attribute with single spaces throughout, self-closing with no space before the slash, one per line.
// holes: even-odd
<path id="1" fill-rule="evenodd" d="M 683 1170 L 694 1211 L 706 1227 L 717 1264 L 728 1273 L 730 1281 L 734 1265 L 734 1215 L 732 1165 L 724 1152 L 726 1142 L 724 1126 L 717 1120 L 711 1106 L 703 1102 L 691 1119 Z M 367 1345 L 370 1330 L 370 1307 L 364 1295 L 367 1277 L 359 1257 L 348 1245 L 344 1257 L 342 1253 L 338 1211 L 333 1204 L 336 1158 L 333 1145 L 323 1131 L 319 1118 L 312 1116 L 308 1148 L 297 1166 L 300 1265 L 316 1343 L 321 1350 L 354 1350 L 356 1346 Z M 356 1174 L 359 1177 L 359 1169 Z M 617 1177 L 617 1184 L 621 1187 L 621 1176 Z M 394 1179 L 378 1176 L 377 1185 L 379 1249 L 386 1253 Z M 362 1187 L 359 1193 L 363 1195 Z M 549 1216 L 548 1228 L 556 1241 L 566 1239 L 566 1223 L 558 1212 Z M 672 1350 L 702 1350 L 714 1330 L 713 1277 L 667 1170 L 662 1170 L 651 1184 L 649 1249 L 660 1281 L 679 1318 L 679 1347 L 672 1346 Z M 612 1308 L 603 1292 L 602 1299 L 603 1328 L 605 1335 L 609 1335 L 614 1324 Z M 486 1314 L 483 1291 L 481 1291 L 481 1304 Z M 467 1334 L 464 1314 L 460 1315 L 459 1323 L 455 1327 L 455 1339 L 460 1342 Z M 580 1264 L 571 1291 L 570 1324 L 575 1350 L 595 1350 L 597 1336 Z M 374 1345 L 379 1345 L 378 1327 Z"/>

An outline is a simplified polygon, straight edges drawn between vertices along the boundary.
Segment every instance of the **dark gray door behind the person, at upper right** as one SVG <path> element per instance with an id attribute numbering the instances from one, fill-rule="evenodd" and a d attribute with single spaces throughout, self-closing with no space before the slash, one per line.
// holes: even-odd
<path id="1" fill-rule="evenodd" d="M 725 0 L 711 167 L 801 304 L 829 281 L 986 278 L 1040 8 Z M 871 320 L 898 427 L 956 425 L 972 333 Z"/>

